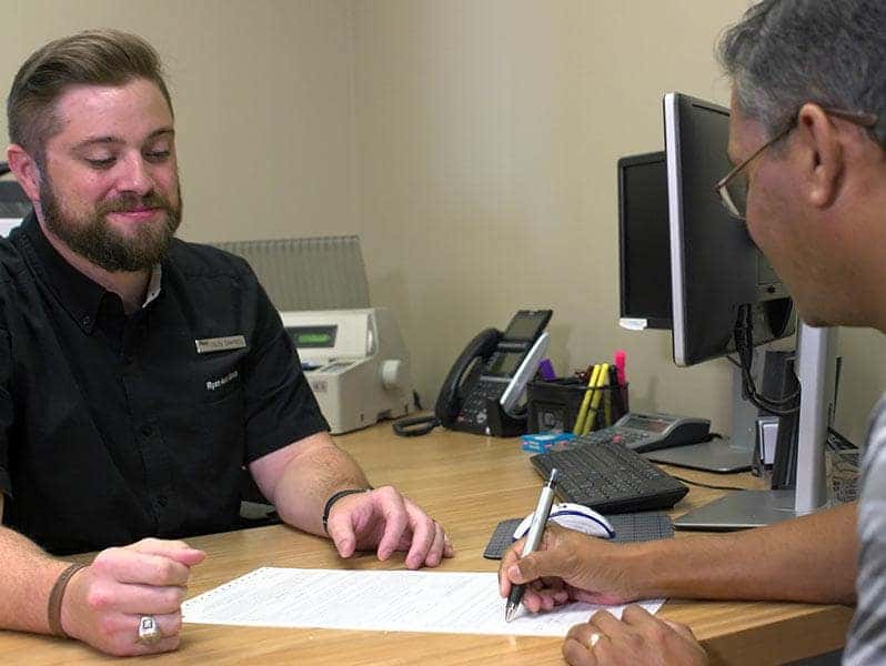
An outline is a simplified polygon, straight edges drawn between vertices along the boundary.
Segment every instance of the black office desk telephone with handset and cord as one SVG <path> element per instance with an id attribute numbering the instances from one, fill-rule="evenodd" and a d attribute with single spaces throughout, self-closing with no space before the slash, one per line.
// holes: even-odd
<path id="1" fill-rule="evenodd" d="M 496 432 L 497 420 L 514 416 L 547 351 L 544 332 L 551 310 L 520 310 L 504 333 L 481 331 L 459 355 L 440 390 L 433 416 L 402 418 L 394 432 L 423 435 L 437 425 L 485 435 Z M 493 406 L 497 412 L 490 414 Z"/>

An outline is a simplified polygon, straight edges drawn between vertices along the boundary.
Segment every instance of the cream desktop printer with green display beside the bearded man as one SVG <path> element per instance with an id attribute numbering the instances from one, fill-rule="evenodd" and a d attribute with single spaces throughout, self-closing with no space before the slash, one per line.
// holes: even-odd
<path id="1" fill-rule="evenodd" d="M 390 310 L 304 310 L 280 316 L 333 434 L 410 412 L 409 354 Z"/>

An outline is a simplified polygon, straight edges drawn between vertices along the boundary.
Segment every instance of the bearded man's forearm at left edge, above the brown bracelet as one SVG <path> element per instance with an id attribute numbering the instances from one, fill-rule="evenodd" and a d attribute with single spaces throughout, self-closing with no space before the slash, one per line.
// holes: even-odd
<path id="1" fill-rule="evenodd" d="M 49 594 L 70 563 L 50 557 L 6 527 L 0 527 L 0 627 L 49 633 Z"/>

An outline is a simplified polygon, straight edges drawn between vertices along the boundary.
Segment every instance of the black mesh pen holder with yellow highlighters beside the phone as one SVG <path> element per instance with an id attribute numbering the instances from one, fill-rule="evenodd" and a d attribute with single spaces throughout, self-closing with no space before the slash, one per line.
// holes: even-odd
<path id="1" fill-rule="evenodd" d="M 528 432 L 572 432 L 588 391 L 600 392 L 600 401 L 595 411 L 591 408 L 587 411 L 587 418 L 593 420 L 587 430 L 606 427 L 625 415 L 627 384 L 594 390 L 588 389 L 578 377 L 535 380 L 526 385 Z"/>

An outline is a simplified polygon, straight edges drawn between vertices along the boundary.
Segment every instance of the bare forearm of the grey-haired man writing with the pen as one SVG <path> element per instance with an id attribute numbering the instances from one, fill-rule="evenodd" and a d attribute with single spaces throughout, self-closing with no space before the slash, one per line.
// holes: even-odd
<path id="1" fill-rule="evenodd" d="M 643 596 L 855 603 L 855 504 L 724 535 L 638 544 L 625 575 Z"/>

